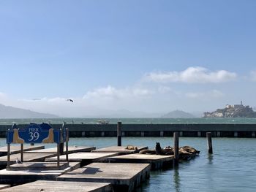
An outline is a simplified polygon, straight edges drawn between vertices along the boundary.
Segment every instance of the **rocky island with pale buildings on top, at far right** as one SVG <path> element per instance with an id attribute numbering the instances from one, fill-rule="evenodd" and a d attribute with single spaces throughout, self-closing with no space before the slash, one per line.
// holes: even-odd
<path id="1" fill-rule="evenodd" d="M 241 101 L 241 104 L 226 104 L 224 109 L 204 112 L 203 118 L 256 118 L 256 112 Z"/>

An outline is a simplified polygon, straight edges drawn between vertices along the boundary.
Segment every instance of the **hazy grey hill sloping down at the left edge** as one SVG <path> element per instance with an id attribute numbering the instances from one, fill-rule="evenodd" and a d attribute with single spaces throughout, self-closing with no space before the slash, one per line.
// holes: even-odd
<path id="1" fill-rule="evenodd" d="M 0 104 L 0 118 L 59 118 L 57 115 L 33 112 Z"/>

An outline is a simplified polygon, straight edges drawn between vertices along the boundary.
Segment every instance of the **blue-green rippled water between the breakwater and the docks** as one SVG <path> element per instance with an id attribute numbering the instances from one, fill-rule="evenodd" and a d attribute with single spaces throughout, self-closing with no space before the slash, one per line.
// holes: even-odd
<path id="1" fill-rule="evenodd" d="M 154 148 L 173 145 L 172 137 L 124 137 L 122 145 L 146 145 Z M 70 138 L 69 145 L 105 147 L 116 145 L 116 137 Z M 200 150 L 191 161 L 177 169 L 151 172 L 151 177 L 138 191 L 256 191 L 256 140 L 241 138 L 213 138 L 214 154 L 208 155 L 205 138 L 180 138 L 180 146 L 189 145 Z M 5 145 L 5 139 L 0 139 Z M 47 145 L 51 147 L 52 145 Z"/>

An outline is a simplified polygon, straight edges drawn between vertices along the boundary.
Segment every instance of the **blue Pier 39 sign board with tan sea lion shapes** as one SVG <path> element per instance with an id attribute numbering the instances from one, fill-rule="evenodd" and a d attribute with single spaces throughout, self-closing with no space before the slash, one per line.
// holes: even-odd
<path id="1" fill-rule="evenodd" d="M 62 133 L 61 133 L 62 132 Z M 65 130 L 66 135 L 66 130 Z M 24 129 L 14 124 L 11 130 L 7 131 L 7 144 L 10 143 L 60 143 L 65 142 L 66 137 L 61 129 L 53 129 L 49 124 L 30 123 Z"/>

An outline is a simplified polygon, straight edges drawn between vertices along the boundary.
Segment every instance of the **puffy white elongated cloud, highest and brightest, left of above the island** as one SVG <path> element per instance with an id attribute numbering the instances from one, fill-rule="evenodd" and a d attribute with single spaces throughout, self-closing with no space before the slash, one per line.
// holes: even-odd
<path id="1" fill-rule="evenodd" d="M 196 66 L 189 67 L 182 72 L 151 72 L 144 75 L 143 79 L 151 82 L 217 83 L 235 80 L 236 76 L 234 72 L 227 72 L 225 70 L 209 72 L 206 68 Z"/>

